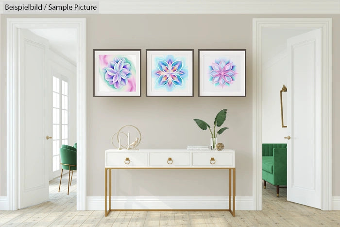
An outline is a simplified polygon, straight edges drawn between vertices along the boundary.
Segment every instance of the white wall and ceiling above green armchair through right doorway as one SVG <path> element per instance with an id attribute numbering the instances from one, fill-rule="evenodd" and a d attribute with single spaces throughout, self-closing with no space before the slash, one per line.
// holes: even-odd
<path id="1" fill-rule="evenodd" d="M 287 87 L 287 39 L 311 31 L 306 28 L 265 28 L 262 39 L 262 142 L 286 143 L 288 128 L 281 126 L 280 90 Z M 289 90 L 289 87 L 287 87 Z M 282 92 L 284 125 L 287 125 L 287 93 Z M 289 127 L 289 125 L 288 125 Z"/>

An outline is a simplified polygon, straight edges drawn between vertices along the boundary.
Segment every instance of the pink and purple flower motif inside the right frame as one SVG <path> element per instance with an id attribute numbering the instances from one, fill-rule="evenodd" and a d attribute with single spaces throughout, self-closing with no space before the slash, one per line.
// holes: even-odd
<path id="1" fill-rule="evenodd" d="M 209 80 L 215 86 L 224 87 L 230 86 L 235 81 L 235 76 L 238 74 L 236 65 L 227 59 L 218 59 L 212 62 L 209 66 Z"/>

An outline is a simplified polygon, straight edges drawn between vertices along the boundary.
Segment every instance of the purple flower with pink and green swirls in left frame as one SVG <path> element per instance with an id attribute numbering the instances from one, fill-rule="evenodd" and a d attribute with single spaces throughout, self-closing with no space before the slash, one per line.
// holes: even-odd
<path id="1" fill-rule="evenodd" d="M 105 83 L 119 91 L 136 91 L 136 69 L 125 56 L 99 55 L 100 73 Z"/>

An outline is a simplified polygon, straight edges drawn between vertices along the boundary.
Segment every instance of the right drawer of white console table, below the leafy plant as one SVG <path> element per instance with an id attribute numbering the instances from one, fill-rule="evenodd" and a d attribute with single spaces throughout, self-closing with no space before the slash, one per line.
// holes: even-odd
<path id="1" fill-rule="evenodd" d="M 223 166 L 235 167 L 234 153 L 193 153 L 193 166 Z"/>

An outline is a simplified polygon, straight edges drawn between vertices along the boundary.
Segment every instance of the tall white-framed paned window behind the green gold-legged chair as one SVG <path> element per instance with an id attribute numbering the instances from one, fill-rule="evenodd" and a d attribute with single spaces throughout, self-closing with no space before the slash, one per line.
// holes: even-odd
<path id="1" fill-rule="evenodd" d="M 68 81 L 53 76 L 53 149 L 52 171 L 60 169 L 59 148 L 68 145 Z"/>

